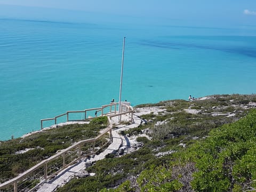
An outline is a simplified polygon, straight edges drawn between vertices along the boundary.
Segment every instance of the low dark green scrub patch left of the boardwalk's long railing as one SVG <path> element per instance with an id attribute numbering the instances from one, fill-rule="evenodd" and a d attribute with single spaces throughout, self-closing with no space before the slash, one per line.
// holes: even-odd
<path id="1" fill-rule="evenodd" d="M 107 125 L 106 117 L 89 124 L 71 124 L 0 142 L 0 182 L 4 182 L 54 155 L 74 142 L 96 137 Z"/>

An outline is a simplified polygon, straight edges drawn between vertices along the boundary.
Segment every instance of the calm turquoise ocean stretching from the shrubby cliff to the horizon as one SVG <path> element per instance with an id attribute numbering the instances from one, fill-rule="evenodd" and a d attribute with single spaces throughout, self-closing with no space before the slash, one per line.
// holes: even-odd
<path id="1" fill-rule="evenodd" d="M 132 106 L 256 93 L 256 27 L 0 19 L 0 140 L 40 119 L 122 100 Z"/>

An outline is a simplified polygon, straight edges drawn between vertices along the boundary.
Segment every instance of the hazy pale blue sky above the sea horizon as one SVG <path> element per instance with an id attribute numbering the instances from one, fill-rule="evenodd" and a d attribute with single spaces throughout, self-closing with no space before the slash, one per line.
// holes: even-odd
<path id="1" fill-rule="evenodd" d="M 67 10 L 73 11 L 66 14 Z M 256 0 L 0 0 L 0 18 L 82 20 L 85 13 L 102 20 L 143 17 L 155 22 L 177 20 L 216 25 L 256 25 Z"/>

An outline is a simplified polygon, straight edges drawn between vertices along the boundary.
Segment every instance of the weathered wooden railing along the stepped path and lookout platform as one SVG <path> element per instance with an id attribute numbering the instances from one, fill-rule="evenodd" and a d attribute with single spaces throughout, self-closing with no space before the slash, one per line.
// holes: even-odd
<path id="1" fill-rule="evenodd" d="M 122 121 L 132 122 L 132 114 L 133 108 L 131 106 L 127 106 L 122 104 L 121 113 L 116 114 L 116 103 L 102 106 L 101 108 L 87 109 L 95 110 L 100 109 L 103 115 L 103 109 L 106 107 L 115 106 L 115 114 L 111 115 L 111 113 L 107 113 L 108 124 L 107 129 L 103 131 L 98 137 L 93 139 L 86 139 L 83 141 L 79 141 L 74 143 L 72 146 L 61 150 L 59 153 L 53 155 L 45 159 L 44 161 L 36 164 L 31 167 L 29 170 L 21 173 L 18 177 L 15 177 L 9 181 L 0 184 L 0 191 L 34 191 L 38 189 L 44 182 L 53 178 L 55 175 L 66 169 L 68 166 L 75 164 L 81 158 L 89 157 L 91 155 L 95 155 L 99 150 L 101 150 L 104 146 L 106 146 L 109 142 L 112 141 L 111 130 L 113 129 L 113 118 L 118 117 L 119 123 Z M 86 110 L 83 111 L 86 113 Z M 111 112 L 111 109 L 110 109 Z M 68 113 L 73 113 L 73 111 L 67 111 Z M 77 112 L 78 113 L 78 112 Z M 49 119 L 56 119 L 60 116 L 66 115 L 62 114 L 56 116 L 54 118 L 42 119 L 43 121 L 47 121 Z M 122 119 L 122 116 L 125 117 Z M 42 122 L 41 120 L 41 122 Z M 118 122 L 114 122 L 115 125 Z"/>

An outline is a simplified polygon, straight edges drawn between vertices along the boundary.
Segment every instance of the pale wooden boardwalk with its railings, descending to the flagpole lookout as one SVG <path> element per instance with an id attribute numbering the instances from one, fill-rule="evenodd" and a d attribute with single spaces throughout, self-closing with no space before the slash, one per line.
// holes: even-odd
<path id="1" fill-rule="evenodd" d="M 81 111 L 67 111 L 65 114 L 55 116 L 54 118 L 41 119 L 41 129 L 43 129 L 44 121 L 53 121 L 55 125 L 58 126 L 57 119 L 62 116 L 67 117 L 67 122 L 70 122 L 69 114 L 70 113 L 82 113 L 84 119 L 87 120 L 87 112 L 95 109 L 99 109 L 98 112 L 100 116 L 107 116 L 108 124 L 105 130 L 95 138 L 86 139 L 74 143 L 72 146 L 59 151 L 59 153 L 44 159 L 42 162 L 39 162 L 35 166 L 31 167 L 27 171 L 19 174 L 17 177 L 0 183 L 0 191 L 13 189 L 14 192 L 18 191 L 53 191 L 58 186 L 66 183 L 74 175 L 83 171 L 85 167 L 92 162 L 99 161 L 109 153 L 114 153 L 118 150 L 123 141 L 121 136 L 117 133 L 113 127 L 125 126 L 122 123 L 130 122 L 132 125 L 136 126 L 136 121 L 133 118 L 134 110 L 127 103 L 121 103 L 121 113 L 116 111 L 118 103 L 110 103 L 109 105 L 104 105 L 101 108 L 85 109 Z M 112 110 L 114 108 L 114 111 Z M 79 120 L 71 120 L 79 122 Z M 122 123 L 121 123 L 122 122 Z M 71 123 L 71 122 L 70 122 Z M 140 123 L 139 123 L 140 124 Z M 110 143 L 110 145 L 109 145 Z M 101 154 L 97 154 L 100 149 L 107 147 Z M 91 157 L 93 156 L 93 157 Z M 28 185 L 28 181 L 34 181 L 39 179 L 37 186 L 33 187 L 32 184 Z M 33 187 L 31 189 L 31 187 Z"/>

